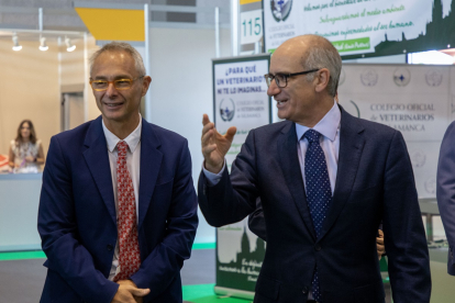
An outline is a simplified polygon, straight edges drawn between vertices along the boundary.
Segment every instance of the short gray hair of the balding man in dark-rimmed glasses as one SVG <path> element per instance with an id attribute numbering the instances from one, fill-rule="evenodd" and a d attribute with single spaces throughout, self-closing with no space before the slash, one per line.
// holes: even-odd
<path id="1" fill-rule="evenodd" d="M 335 97 L 339 88 L 340 74 L 342 68 L 342 59 L 339 50 L 333 44 L 323 37 L 318 37 L 314 45 L 309 47 L 308 53 L 304 55 L 302 65 L 306 69 L 326 68 L 330 71 L 330 79 L 328 85 L 328 91 L 331 96 Z M 307 80 L 314 79 L 314 74 L 307 75 Z"/>

